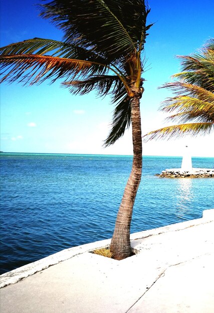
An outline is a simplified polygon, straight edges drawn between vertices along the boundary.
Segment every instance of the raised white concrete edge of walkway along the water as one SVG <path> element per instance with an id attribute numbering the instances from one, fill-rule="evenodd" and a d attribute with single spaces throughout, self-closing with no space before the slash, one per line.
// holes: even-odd
<path id="1" fill-rule="evenodd" d="M 167 226 L 163 226 L 159 228 L 132 233 L 130 235 L 130 239 L 135 240 L 135 239 L 145 238 L 151 235 L 158 235 L 164 232 L 178 231 L 178 230 L 182 230 L 191 226 L 199 225 L 201 223 L 206 223 L 211 220 L 214 220 L 214 209 L 208 209 L 208 210 L 203 211 L 202 218 L 192 219 L 192 220 L 188 220 L 188 221 L 184 221 L 184 222 L 180 222 L 176 224 L 171 224 L 171 225 L 167 225 Z M 18 267 L 14 270 L 8 271 L 0 275 L 0 279 L 1 279 L 0 288 L 16 283 L 23 278 L 33 275 L 36 272 L 41 271 L 45 268 L 48 268 L 51 265 L 55 265 L 61 261 L 65 261 L 75 255 L 89 252 L 89 251 L 92 251 L 101 247 L 107 247 L 110 245 L 110 242 L 111 242 L 111 238 L 71 247 L 68 249 L 64 249 L 60 252 L 51 254 L 38 261 L 29 263 L 27 265 Z"/>

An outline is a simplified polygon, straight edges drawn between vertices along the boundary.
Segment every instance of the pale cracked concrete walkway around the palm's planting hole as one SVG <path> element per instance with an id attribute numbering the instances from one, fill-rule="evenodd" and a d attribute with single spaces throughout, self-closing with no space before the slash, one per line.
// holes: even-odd
<path id="1" fill-rule="evenodd" d="M 121 261 L 89 252 L 103 240 L 1 275 L 1 313 L 214 312 L 214 209 L 131 238 Z"/>

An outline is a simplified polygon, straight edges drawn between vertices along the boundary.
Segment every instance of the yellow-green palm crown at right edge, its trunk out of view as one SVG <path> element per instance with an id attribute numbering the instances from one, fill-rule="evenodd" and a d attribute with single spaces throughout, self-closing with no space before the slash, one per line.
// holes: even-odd
<path id="1" fill-rule="evenodd" d="M 150 131 L 143 136 L 145 141 L 207 134 L 214 128 L 214 39 L 206 42 L 201 54 L 178 57 L 183 59 L 183 71 L 172 77 L 179 80 L 162 86 L 175 91 L 176 95 L 163 101 L 160 109 L 173 112 L 166 120 L 179 124 Z"/>

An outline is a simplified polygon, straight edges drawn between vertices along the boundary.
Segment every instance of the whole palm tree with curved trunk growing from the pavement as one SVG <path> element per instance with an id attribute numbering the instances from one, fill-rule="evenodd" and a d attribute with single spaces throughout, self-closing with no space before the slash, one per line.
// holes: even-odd
<path id="1" fill-rule="evenodd" d="M 64 32 L 63 41 L 33 38 L 0 49 L 2 81 L 37 84 L 64 78 L 73 94 L 96 90 L 112 95 L 112 129 L 105 146 L 132 124 L 133 164 L 119 208 L 110 249 L 115 259 L 131 254 L 130 223 L 142 171 L 140 98 L 146 26 L 144 0 L 53 0 L 41 16 Z"/>

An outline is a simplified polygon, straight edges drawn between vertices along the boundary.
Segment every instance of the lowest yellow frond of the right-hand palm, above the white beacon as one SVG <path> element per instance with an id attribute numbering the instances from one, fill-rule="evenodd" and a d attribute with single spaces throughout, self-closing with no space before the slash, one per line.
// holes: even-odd
<path id="1" fill-rule="evenodd" d="M 143 136 L 143 141 L 178 138 L 184 135 L 205 135 L 213 131 L 213 122 L 186 123 L 179 125 L 166 126 L 157 130 L 150 131 Z"/>

